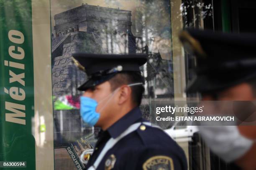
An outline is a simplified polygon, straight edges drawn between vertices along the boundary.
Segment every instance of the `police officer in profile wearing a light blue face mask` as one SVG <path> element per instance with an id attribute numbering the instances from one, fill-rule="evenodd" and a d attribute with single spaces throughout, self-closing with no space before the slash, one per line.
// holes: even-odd
<path id="1" fill-rule="evenodd" d="M 80 113 L 101 131 L 87 170 L 187 170 L 181 147 L 142 118 L 145 54 L 73 54 L 88 80 L 78 88 Z"/>

